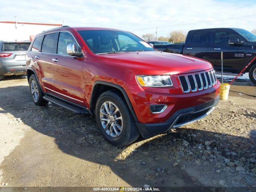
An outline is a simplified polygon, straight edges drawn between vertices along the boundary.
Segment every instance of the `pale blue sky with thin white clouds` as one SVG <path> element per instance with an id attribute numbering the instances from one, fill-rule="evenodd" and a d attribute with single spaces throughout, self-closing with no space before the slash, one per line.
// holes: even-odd
<path id="1" fill-rule="evenodd" d="M 173 30 L 215 27 L 256 28 L 256 0 L 11 0 L 0 20 L 63 23 L 166 36 Z"/>

